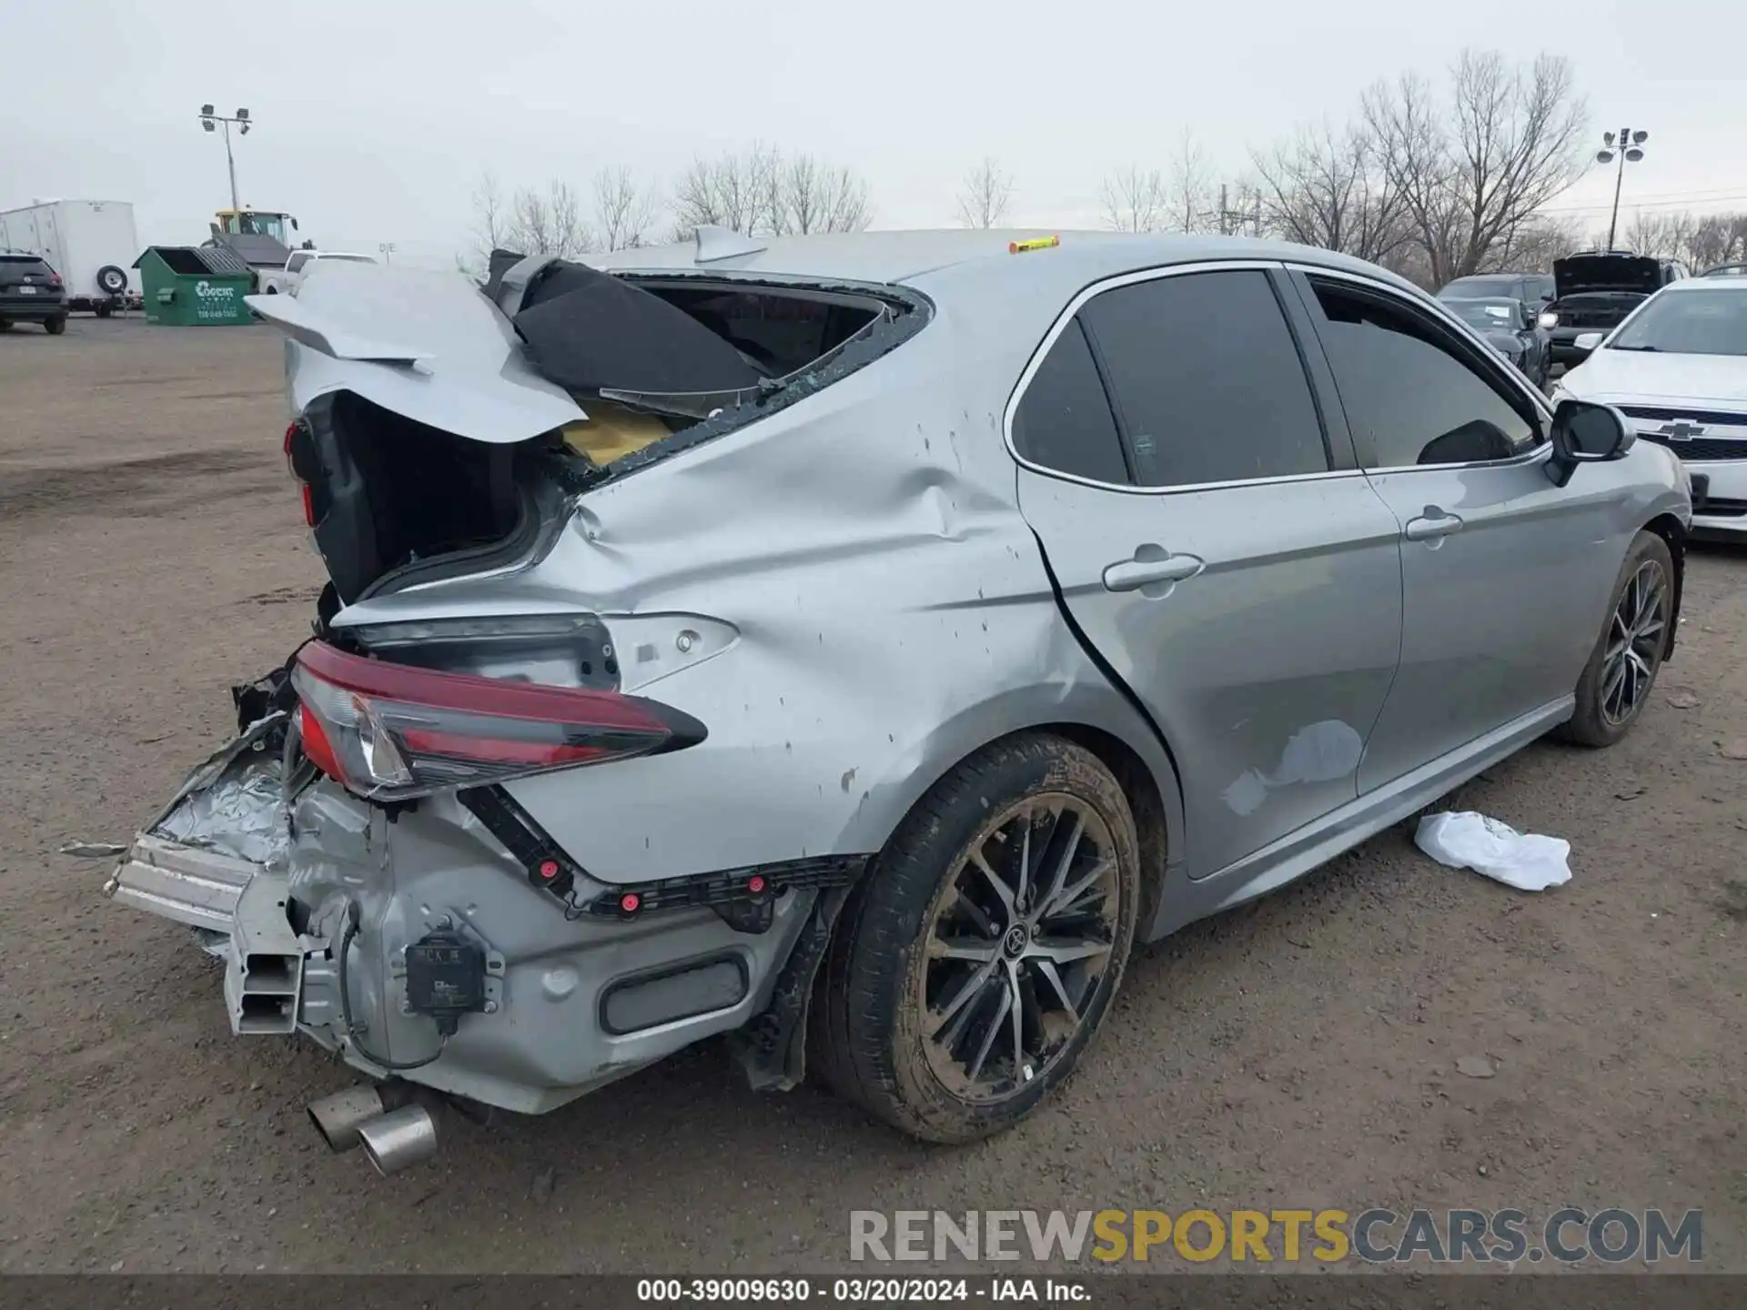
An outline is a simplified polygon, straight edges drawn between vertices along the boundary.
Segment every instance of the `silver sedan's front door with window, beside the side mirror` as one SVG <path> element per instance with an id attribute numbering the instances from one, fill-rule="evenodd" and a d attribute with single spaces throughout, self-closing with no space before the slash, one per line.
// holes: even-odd
<path id="1" fill-rule="evenodd" d="M 1555 487 L 1544 410 L 1426 306 L 1370 279 L 1295 281 L 1401 531 L 1401 671 L 1359 770 L 1370 791 L 1572 693 L 1625 554 L 1618 493 Z"/>

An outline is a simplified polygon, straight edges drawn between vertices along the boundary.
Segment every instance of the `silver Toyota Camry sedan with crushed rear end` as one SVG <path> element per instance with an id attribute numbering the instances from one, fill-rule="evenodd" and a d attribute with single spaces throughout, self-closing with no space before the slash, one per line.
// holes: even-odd
<path id="1" fill-rule="evenodd" d="M 1137 941 L 1612 744 L 1674 648 L 1679 459 L 1326 252 L 706 227 L 250 304 L 330 582 L 108 887 L 384 1170 L 718 1034 L 998 1130 Z"/>

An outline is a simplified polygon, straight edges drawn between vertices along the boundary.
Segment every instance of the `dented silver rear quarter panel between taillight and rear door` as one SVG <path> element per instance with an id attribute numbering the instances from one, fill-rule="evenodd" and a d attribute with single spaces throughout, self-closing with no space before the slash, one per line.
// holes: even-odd
<path id="1" fill-rule="evenodd" d="M 638 690 L 706 723 L 702 744 L 507 784 L 596 877 L 879 851 L 954 763 L 1050 723 L 1127 742 L 1177 812 L 1157 737 L 1057 610 L 1001 442 L 1008 393 L 1067 292 L 980 283 L 966 313 L 947 281 L 922 283 L 942 293 L 907 344 L 589 493 L 540 564 L 489 583 L 493 608 L 577 606 L 610 629 L 632 615 L 734 627 L 728 650 Z M 337 622 L 433 613 L 449 596 L 472 608 L 479 587 L 419 587 Z"/>

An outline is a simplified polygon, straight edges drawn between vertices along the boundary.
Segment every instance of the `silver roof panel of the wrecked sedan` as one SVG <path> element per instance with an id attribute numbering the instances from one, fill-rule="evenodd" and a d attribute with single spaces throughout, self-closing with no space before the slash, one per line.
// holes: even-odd
<path id="1" fill-rule="evenodd" d="M 1048 241 L 1059 245 L 1015 253 L 1013 243 Z M 947 229 L 893 232 L 821 232 L 812 236 L 753 238 L 744 255 L 697 262 L 697 245 L 683 241 L 669 246 L 620 250 L 611 255 L 587 255 L 583 262 L 606 272 L 687 272 L 728 274 L 735 278 L 770 276 L 779 279 L 842 283 L 919 283 L 950 274 L 957 288 L 980 278 L 1006 279 L 1013 269 L 1031 269 L 1045 281 L 1074 288 L 1122 272 L 1193 264 L 1198 260 L 1291 260 L 1329 269 L 1366 272 L 1401 288 L 1419 292 L 1350 255 L 1286 241 L 1256 241 L 1233 236 L 1184 236 L 1164 232 L 1074 232 L 1060 229 Z"/>

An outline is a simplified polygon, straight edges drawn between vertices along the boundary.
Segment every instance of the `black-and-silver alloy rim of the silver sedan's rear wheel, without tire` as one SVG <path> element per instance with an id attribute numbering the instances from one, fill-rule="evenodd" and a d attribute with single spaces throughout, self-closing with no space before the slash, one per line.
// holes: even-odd
<path id="1" fill-rule="evenodd" d="M 1041 793 L 984 824 L 922 940 L 922 1045 L 954 1095 L 1005 1100 L 1066 1053 L 1111 966 L 1120 908 L 1109 826 L 1087 802 Z"/>

